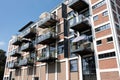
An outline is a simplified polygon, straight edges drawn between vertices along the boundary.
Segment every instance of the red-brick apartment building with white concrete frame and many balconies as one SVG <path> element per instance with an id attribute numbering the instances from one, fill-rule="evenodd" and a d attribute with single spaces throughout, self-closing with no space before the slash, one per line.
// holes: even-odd
<path id="1" fill-rule="evenodd" d="M 120 0 L 66 0 L 13 36 L 3 80 L 120 80 Z"/>

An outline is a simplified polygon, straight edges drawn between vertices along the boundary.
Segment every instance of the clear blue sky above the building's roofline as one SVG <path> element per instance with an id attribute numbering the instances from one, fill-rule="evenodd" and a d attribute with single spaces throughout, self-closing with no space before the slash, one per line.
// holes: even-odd
<path id="1" fill-rule="evenodd" d="M 55 8 L 62 0 L 0 0 L 0 49 L 7 51 L 11 36 L 44 11 Z"/>

